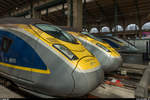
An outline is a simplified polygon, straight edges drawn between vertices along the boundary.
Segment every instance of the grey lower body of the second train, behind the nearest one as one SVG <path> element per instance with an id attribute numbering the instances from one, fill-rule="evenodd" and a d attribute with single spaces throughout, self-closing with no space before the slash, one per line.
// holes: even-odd
<path id="1" fill-rule="evenodd" d="M 87 40 L 76 37 L 100 61 L 104 72 L 116 71 L 122 65 L 121 57 L 113 57 Z"/>

